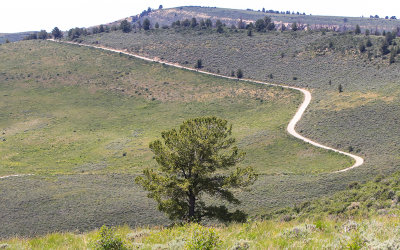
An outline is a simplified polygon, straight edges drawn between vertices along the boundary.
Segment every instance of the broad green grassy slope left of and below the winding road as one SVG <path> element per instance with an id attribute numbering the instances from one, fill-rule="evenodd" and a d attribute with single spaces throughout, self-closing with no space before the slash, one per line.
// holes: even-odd
<path id="1" fill-rule="evenodd" d="M 232 122 L 242 164 L 261 174 L 238 194 L 251 214 L 351 181 L 329 174 L 349 158 L 286 134 L 298 92 L 47 41 L 1 45 L 0 55 L 0 175 L 34 174 L 0 180 L 1 237 L 167 223 L 133 180 L 155 165 L 151 140 L 202 115 Z"/>

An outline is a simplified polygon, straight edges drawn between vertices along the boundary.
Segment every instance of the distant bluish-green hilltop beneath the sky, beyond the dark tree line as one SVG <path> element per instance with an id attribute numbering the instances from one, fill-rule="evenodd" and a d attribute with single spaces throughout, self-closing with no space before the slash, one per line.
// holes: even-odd
<path id="1" fill-rule="evenodd" d="M 266 8 L 268 9 L 267 6 Z M 264 18 L 265 16 L 270 16 L 277 24 L 284 23 L 288 25 L 296 22 L 304 26 L 308 25 L 310 28 L 344 29 L 345 27 L 346 29 L 354 30 L 358 24 L 362 30 L 372 29 L 375 31 L 377 29 L 379 31 L 391 31 L 400 26 L 399 20 L 387 20 L 383 18 L 271 14 L 260 11 L 196 6 L 154 10 L 148 16 L 142 17 L 139 20 L 143 23 L 145 18 L 149 18 L 153 23 L 158 22 L 160 25 L 170 25 L 177 20 L 191 20 L 193 17 L 198 20 L 209 18 L 214 23 L 219 19 L 230 27 L 232 24 L 237 26 L 240 19 L 249 23 L 255 22 L 257 19 Z"/>

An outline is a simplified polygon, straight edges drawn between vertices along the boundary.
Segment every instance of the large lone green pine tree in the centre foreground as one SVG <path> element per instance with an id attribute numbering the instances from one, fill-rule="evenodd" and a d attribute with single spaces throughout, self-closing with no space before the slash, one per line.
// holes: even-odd
<path id="1" fill-rule="evenodd" d="M 147 190 L 148 197 L 171 220 L 200 221 L 203 217 L 222 221 L 235 220 L 244 213 L 229 213 L 225 206 L 207 206 L 204 195 L 219 197 L 229 203 L 240 201 L 230 188 L 240 189 L 255 182 L 253 168 L 237 167 L 244 153 L 234 146 L 232 125 L 217 117 L 189 119 L 179 127 L 161 133 L 162 140 L 150 143 L 159 165 L 158 171 L 146 169 L 136 183 Z M 224 170 L 224 171 L 221 171 Z"/>

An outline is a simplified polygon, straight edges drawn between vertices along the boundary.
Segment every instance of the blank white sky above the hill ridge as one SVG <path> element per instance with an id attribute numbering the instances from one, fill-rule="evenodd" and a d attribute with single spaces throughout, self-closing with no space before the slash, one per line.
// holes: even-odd
<path id="1" fill-rule="evenodd" d="M 147 7 L 210 6 L 234 9 L 291 10 L 313 15 L 397 16 L 400 1 L 376 0 L 0 0 L 0 33 L 33 31 L 54 26 L 62 30 L 87 27 L 136 15 Z"/>

